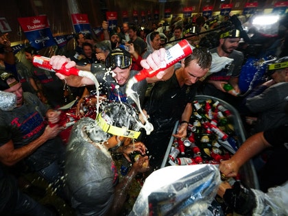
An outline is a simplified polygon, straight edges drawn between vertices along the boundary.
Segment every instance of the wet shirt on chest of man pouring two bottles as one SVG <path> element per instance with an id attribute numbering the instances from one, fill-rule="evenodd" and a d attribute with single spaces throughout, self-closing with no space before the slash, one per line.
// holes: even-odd
<path id="1" fill-rule="evenodd" d="M 122 101 L 131 104 L 134 107 L 136 106 L 134 101 L 126 95 L 127 83 L 123 86 L 119 86 L 117 82 L 115 82 L 115 80 L 113 79 L 111 73 L 108 73 L 106 69 L 102 69 L 101 71 L 95 70 L 92 72 L 94 73 L 97 81 L 99 82 L 101 93 L 107 95 L 110 102 Z M 128 80 L 134 77 L 134 75 L 136 75 L 137 73 L 139 73 L 139 71 L 130 71 L 130 78 Z M 143 104 L 146 89 L 147 81 L 145 79 L 141 80 L 140 82 L 136 82 L 132 86 L 132 90 L 136 91 L 136 93 L 139 95 L 140 104 Z"/>

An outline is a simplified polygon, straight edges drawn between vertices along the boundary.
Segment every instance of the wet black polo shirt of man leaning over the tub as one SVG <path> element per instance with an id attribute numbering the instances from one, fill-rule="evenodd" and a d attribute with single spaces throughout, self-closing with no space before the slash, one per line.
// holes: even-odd
<path id="1" fill-rule="evenodd" d="M 176 121 L 180 120 L 187 103 L 192 103 L 196 88 L 197 84 L 180 87 L 175 73 L 169 80 L 157 82 L 152 88 L 144 109 L 150 117 L 154 131 L 143 141 L 152 155 L 152 167 L 162 163 L 173 127 Z"/>

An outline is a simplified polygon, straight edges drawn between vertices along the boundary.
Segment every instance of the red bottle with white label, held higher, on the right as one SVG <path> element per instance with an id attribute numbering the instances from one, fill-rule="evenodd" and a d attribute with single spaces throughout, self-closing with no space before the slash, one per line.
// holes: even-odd
<path id="1" fill-rule="evenodd" d="M 165 60 L 159 69 L 143 69 L 134 75 L 134 83 L 144 80 L 146 77 L 154 77 L 160 71 L 171 67 L 183 58 L 186 58 L 192 53 L 192 48 L 187 40 L 181 40 L 178 44 L 166 50 Z"/>

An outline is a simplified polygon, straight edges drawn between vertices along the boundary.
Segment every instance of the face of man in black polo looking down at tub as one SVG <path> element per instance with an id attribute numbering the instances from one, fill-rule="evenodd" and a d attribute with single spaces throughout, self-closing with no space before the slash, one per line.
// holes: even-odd
<path id="1" fill-rule="evenodd" d="M 195 84 L 195 82 L 201 77 L 204 77 L 207 72 L 208 69 L 202 69 L 199 64 L 197 64 L 197 60 L 192 60 L 190 64 L 184 68 L 184 84 L 187 86 Z"/>

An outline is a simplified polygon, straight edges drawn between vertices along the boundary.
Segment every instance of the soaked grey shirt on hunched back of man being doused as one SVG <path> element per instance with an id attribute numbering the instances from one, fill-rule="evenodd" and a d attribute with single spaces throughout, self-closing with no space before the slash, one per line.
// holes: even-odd
<path id="1" fill-rule="evenodd" d="M 95 120 L 85 117 L 73 125 L 65 158 L 64 173 L 71 205 L 80 215 L 105 215 L 118 180 L 110 154 L 97 147 L 101 144 L 93 145 L 84 139 L 85 126 L 93 123 Z"/>

